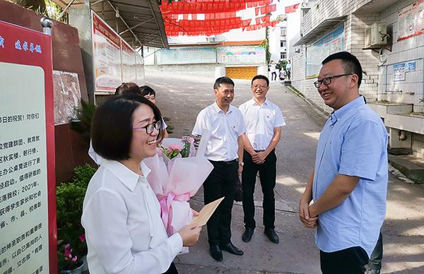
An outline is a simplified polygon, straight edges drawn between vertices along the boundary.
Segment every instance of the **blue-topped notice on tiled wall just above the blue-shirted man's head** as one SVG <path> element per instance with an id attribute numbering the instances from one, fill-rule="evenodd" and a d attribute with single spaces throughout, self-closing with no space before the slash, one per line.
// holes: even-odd
<path id="1" fill-rule="evenodd" d="M 344 50 L 344 28 L 336 28 L 306 48 L 306 78 L 315 78 L 327 56 Z"/>

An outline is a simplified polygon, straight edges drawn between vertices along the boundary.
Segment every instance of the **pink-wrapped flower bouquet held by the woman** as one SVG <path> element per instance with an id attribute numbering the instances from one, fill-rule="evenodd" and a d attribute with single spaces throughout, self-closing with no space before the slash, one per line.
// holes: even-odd
<path id="1" fill-rule="evenodd" d="M 160 214 L 168 235 L 177 232 L 193 218 L 189 199 L 213 169 L 204 156 L 210 136 L 210 132 L 204 132 L 196 155 L 191 140 L 165 138 L 158 154 L 144 160 L 151 169 L 147 179 L 158 196 Z M 187 147 L 190 148 L 188 152 L 187 149 L 184 151 Z M 184 153 L 187 157 L 182 157 Z M 169 155 L 172 155 L 171 159 Z"/>

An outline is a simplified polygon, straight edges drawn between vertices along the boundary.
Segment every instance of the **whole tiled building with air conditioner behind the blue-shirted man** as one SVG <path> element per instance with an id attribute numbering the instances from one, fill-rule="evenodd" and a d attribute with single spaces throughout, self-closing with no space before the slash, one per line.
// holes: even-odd
<path id="1" fill-rule="evenodd" d="M 424 0 L 304 1 L 289 47 L 292 85 L 330 112 L 314 88 L 321 61 L 346 50 L 363 66 L 360 94 L 384 120 L 389 149 L 424 159 Z M 290 20 L 288 28 L 299 22 Z"/>

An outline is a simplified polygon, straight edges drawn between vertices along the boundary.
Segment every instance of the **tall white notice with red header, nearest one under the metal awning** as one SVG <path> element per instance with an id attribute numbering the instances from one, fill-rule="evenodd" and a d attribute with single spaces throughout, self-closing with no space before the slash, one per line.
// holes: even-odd
<path id="1" fill-rule="evenodd" d="M 95 13 L 92 15 L 95 91 L 114 91 L 122 83 L 121 38 Z"/>

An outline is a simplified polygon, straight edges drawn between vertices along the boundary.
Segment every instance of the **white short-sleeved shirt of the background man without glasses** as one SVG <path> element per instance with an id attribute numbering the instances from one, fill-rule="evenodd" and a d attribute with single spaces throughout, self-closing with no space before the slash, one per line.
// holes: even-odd
<path id="1" fill-rule="evenodd" d="M 205 153 L 208 160 L 231 161 L 238 158 L 237 138 L 246 131 L 240 110 L 230 105 L 225 113 L 214 102 L 199 112 L 192 134 L 201 135 L 205 129 L 211 131 Z"/>

